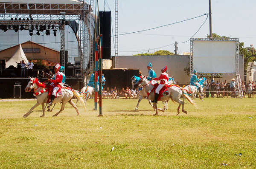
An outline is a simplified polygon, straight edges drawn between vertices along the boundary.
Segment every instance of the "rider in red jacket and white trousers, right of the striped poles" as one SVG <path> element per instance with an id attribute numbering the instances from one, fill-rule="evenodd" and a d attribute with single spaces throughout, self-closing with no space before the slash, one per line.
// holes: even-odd
<path id="1" fill-rule="evenodd" d="M 155 99 L 154 101 L 151 101 L 152 103 L 157 103 L 157 99 L 159 96 L 159 91 L 167 84 L 167 81 L 169 79 L 169 75 L 166 73 L 167 71 L 167 66 L 165 65 L 162 69 L 161 69 L 161 75 L 159 76 L 159 78 L 154 78 L 154 80 L 159 80 L 160 84 L 158 85 L 157 89 L 155 90 Z"/>

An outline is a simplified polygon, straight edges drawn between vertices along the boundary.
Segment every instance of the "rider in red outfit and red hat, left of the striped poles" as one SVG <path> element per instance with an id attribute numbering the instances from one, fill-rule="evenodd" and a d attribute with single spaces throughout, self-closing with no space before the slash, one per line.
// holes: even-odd
<path id="1" fill-rule="evenodd" d="M 52 91 L 52 98 L 51 101 L 48 103 L 49 105 L 52 105 L 52 101 L 55 99 L 56 93 L 59 90 L 59 88 L 62 85 L 62 75 L 61 73 L 58 71 L 61 68 L 60 64 L 57 64 L 54 68 L 55 71 L 55 79 L 48 79 L 49 82 L 52 82 L 52 86 L 53 86 L 53 91 Z M 62 85 L 63 86 L 63 85 Z"/>

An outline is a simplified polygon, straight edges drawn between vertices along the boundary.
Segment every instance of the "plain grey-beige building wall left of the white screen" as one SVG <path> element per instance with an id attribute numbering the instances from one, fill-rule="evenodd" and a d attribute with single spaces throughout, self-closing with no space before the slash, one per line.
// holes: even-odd
<path id="1" fill-rule="evenodd" d="M 119 56 L 118 62 L 119 68 L 140 69 L 143 75 L 148 75 L 147 65 L 151 62 L 157 77 L 163 66 L 167 65 L 169 76 L 174 77 L 179 84 L 186 84 L 190 80 L 184 71 L 184 68 L 189 67 L 189 56 Z"/>

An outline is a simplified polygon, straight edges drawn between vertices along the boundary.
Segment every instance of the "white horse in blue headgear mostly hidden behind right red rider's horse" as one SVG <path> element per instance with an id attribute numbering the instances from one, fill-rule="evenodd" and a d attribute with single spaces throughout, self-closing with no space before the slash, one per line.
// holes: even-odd
<path id="1" fill-rule="evenodd" d="M 132 84 L 132 86 L 134 86 L 134 84 L 138 81 L 138 78 L 139 78 L 139 77 L 137 77 L 137 76 L 132 76 L 132 77 L 131 77 L 131 84 Z M 155 80 L 151 80 L 151 82 L 152 82 L 152 84 L 155 84 L 155 83 L 156 83 Z M 169 83 L 170 83 L 170 84 L 174 84 L 175 82 L 174 82 L 174 80 L 173 80 L 172 78 L 170 78 Z M 143 87 L 139 87 L 139 88 L 141 88 L 142 90 L 144 90 Z M 143 92 L 143 91 L 142 91 L 142 92 Z M 141 101 L 142 99 L 145 99 L 145 98 L 147 98 L 147 97 L 140 94 L 140 98 L 139 98 L 139 100 L 138 100 L 137 106 L 135 107 L 135 111 L 138 110 L 140 101 Z M 151 103 L 151 101 L 150 101 L 149 99 L 148 99 L 148 103 L 149 103 L 149 104 L 151 105 L 151 107 L 154 109 L 154 106 L 153 106 L 153 104 Z M 165 101 L 163 101 L 163 109 L 159 108 L 158 110 L 164 112 L 164 110 L 167 110 L 167 109 L 168 109 L 168 100 L 165 100 Z M 155 110 L 155 109 L 154 109 L 154 110 Z"/>

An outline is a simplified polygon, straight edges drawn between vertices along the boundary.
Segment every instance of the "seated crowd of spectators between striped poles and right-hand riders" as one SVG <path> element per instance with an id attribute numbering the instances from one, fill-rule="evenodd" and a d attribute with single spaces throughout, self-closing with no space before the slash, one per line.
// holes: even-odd
<path id="1" fill-rule="evenodd" d="M 126 87 L 126 89 L 124 87 L 122 87 L 121 90 L 117 90 L 116 87 L 114 88 L 110 88 L 107 87 L 107 89 L 105 89 L 105 87 L 103 87 L 102 90 L 102 98 L 103 99 L 116 99 L 116 96 L 123 96 L 126 99 L 137 99 L 137 97 L 140 95 L 140 92 L 138 90 L 133 90 L 130 89 L 129 87 Z"/>

